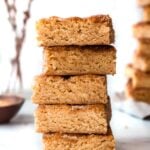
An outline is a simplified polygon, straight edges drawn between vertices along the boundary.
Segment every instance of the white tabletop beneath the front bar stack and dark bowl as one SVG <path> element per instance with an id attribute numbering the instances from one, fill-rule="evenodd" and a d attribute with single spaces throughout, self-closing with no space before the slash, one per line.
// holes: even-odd
<path id="1" fill-rule="evenodd" d="M 42 150 L 41 135 L 34 131 L 34 109 L 26 101 L 10 124 L 0 125 L 0 150 Z M 111 125 L 117 150 L 150 150 L 150 121 L 113 110 Z"/>

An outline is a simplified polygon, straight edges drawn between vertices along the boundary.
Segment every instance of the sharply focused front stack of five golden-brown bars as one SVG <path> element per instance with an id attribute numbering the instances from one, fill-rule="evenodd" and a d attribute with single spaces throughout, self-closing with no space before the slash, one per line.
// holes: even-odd
<path id="1" fill-rule="evenodd" d="M 32 100 L 44 150 L 114 150 L 107 74 L 115 73 L 112 20 L 50 17 L 37 22 L 43 74 Z"/>

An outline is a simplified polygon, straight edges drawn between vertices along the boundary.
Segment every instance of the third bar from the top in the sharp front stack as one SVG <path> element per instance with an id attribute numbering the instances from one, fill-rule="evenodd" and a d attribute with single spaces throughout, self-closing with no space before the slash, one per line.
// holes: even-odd
<path id="1" fill-rule="evenodd" d="M 32 101 L 36 104 L 107 103 L 106 76 L 47 76 L 35 78 Z"/>

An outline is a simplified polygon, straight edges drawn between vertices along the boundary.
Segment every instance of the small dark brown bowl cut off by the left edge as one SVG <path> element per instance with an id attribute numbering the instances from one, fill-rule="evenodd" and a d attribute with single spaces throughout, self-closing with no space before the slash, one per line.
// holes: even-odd
<path id="1" fill-rule="evenodd" d="M 10 105 L 0 105 L 0 123 L 8 123 L 19 111 L 25 99 L 16 95 L 0 95 L 2 101 L 13 101 Z"/>

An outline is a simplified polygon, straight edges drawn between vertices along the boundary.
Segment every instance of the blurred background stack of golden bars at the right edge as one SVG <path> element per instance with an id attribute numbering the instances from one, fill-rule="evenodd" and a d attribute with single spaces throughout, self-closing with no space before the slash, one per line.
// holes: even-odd
<path id="1" fill-rule="evenodd" d="M 132 64 L 126 67 L 128 83 L 126 96 L 140 102 L 150 103 L 150 0 L 138 0 L 143 10 L 143 20 L 133 27 L 138 40 Z"/>

